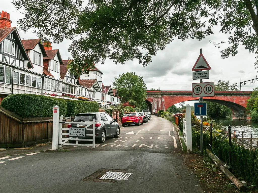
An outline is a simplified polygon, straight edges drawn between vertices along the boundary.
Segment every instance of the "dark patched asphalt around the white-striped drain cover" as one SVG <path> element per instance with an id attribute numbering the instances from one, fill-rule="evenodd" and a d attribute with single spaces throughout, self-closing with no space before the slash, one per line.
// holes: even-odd
<path id="1" fill-rule="evenodd" d="M 90 176 L 85 177 L 84 179 L 82 179 L 82 181 L 90 181 L 90 182 L 110 182 L 110 183 L 114 183 L 114 182 L 118 182 L 121 180 L 111 180 L 111 179 L 99 179 L 102 176 L 104 176 L 104 174 L 106 174 L 106 172 L 124 172 L 125 170 L 116 170 L 116 169 L 99 169 L 98 171 L 94 172 L 93 174 L 91 174 Z"/>

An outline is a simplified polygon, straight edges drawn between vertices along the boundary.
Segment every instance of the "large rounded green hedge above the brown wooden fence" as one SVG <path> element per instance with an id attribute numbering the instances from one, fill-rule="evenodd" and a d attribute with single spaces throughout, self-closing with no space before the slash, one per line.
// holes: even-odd
<path id="1" fill-rule="evenodd" d="M 60 107 L 60 115 L 66 115 L 67 104 L 63 99 L 36 94 L 11 94 L 4 98 L 1 106 L 23 118 L 53 117 L 53 107 Z"/>

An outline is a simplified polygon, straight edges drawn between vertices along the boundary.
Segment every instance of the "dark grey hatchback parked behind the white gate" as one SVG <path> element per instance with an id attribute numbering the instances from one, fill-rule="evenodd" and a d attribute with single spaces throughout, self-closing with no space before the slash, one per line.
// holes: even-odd
<path id="1" fill-rule="evenodd" d="M 72 121 L 93 121 L 95 119 L 95 138 L 100 142 L 104 143 L 107 137 L 119 137 L 120 128 L 117 123 L 117 119 L 113 119 L 109 114 L 104 112 L 91 112 L 91 113 L 79 113 L 74 116 Z M 79 127 L 85 127 L 87 124 L 79 124 Z M 70 127 L 77 127 L 77 124 L 71 124 Z M 93 128 L 93 125 L 88 127 Z M 92 131 L 86 131 L 86 133 L 92 133 Z M 91 136 L 79 137 L 79 139 L 92 138 Z M 76 141 L 70 140 L 70 143 L 76 143 Z"/>

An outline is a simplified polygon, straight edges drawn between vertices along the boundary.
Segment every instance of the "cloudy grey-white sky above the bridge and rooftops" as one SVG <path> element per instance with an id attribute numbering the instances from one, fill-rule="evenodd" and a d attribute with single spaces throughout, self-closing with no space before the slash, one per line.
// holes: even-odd
<path id="1" fill-rule="evenodd" d="M 11 2 L 11 0 L 0 0 L 0 5 L 1 10 L 10 13 L 12 27 L 14 27 L 17 26 L 16 21 L 23 17 L 23 15 L 15 11 L 15 7 Z M 203 55 L 211 66 L 210 78 L 204 80 L 204 82 L 214 81 L 216 84 L 219 80 L 229 80 L 231 83 L 238 83 L 239 86 L 240 79 L 245 81 L 255 78 L 255 54 L 249 54 L 243 46 L 240 46 L 237 56 L 222 59 L 220 57 L 220 50 L 223 47 L 218 49 L 209 41 L 227 41 L 227 36 L 218 33 L 219 29 L 214 32 L 215 35 L 207 37 L 202 41 L 189 39 L 183 42 L 175 39 L 166 46 L 165 50 L 159 51 L 152 58 L 150 65 L 145 68 L 138 64 L 137 61 L 130 61 L 125 65 L 115 65 L 111 60 L 106 60 L 104 65 L 98 64 L 97 67 L 104 73 L 103 82 L 106 86 L 112 85 L 114 77 L 119 74 L 135 72 L 137 75 L 143 76 L 148 89 L 158 89 L 160 87 L 161 90 L 191 90 L 191 84 L 199 82 L 198 80 L 192 80 L 191 69 L 199 56 L 200 48 L 202 48 Z M 19 32 L 19 34 L 23 39 L 37 38 L 36 34 L 32 32 Z M 71 57 L 71 54 L 67 51 L 69 45 L 70 42 L 66 40 L 52 46 L 53 49 L 60 50 L 62 59 L 67 59 Z M 256 86 L 258 86 L 257 81 L 251 84 L 247 83 L 245 86 L 242 86 L 242 90 L 252 90 Z"/>

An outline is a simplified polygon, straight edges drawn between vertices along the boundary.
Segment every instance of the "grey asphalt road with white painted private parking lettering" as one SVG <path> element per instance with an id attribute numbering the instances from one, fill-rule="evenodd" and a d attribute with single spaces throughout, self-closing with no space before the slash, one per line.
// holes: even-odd
<path id="1" fill-rule="evenodd" d="M 120 138 L 107 138 L 95 149 L 67 146 L 68 152 L 0 157 L 0 192 L 203 192 L 195 175 L 188 176 L 192 170 L 179 154 L 173 127 L 152 116 L 143 126 L 121 128 Z M 102 174 L 94 174 L 100 169 L 132 175 L 106 182 L 98 179 Z M 92 178 L 84 181 L 88 176 Z"/>

